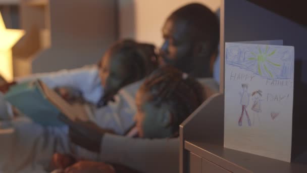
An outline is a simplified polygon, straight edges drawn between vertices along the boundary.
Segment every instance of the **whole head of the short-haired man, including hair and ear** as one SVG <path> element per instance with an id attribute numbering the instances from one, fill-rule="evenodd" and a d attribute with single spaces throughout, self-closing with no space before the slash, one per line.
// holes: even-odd
<path id="1" fill-rule="evenodd" d="M 212 66 L 218 51 L 217 17 L 200 4 L 190 4 L 173 12 L 166 20 L 161 56 L 194 77 L 212 77 Z"/>

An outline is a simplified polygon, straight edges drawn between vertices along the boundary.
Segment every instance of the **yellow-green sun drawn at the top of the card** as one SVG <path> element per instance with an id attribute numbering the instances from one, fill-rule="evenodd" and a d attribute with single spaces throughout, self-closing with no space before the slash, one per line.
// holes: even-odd
<path id="1" fill-rule="evenodd" d="M 271 77 L 273 77 L 273 74 L 272 72 L 267 68 L 265 62 L 268 62 L 276 67 L 280 67 L 280 64 L 275 64 L 273 63 L 272 61 L 268 60 L 269 57 L 271 57 L 272 55 L 275 54 L 276 50 L 274 50 L 273 52 L 271 53 L 268 53 L 268 46 L 266 47 L 266 51 L 263 53 L 261 51 L 261 49 L 259 48 L 259 54 L 255 54 L 253 52 L 250 52 L 251 55 L 255 56 L 255 57 L 251 57 L 251 58 L 248 58 L 249 61 L 257 61 L 257 64 L 258 64 L 258 73 L 259 75 L 262 76 L 262 71 L 261 71 L 261 66 L 264 67 L 264 69 L 266 70 L 267 73 L 270 74 Z"/>

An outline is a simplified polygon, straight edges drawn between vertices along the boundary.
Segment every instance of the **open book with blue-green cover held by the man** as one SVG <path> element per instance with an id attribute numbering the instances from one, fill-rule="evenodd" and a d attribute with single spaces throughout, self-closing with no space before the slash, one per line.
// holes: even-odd
<path id="1" fill-rule="evenodd" d="M 5 99 L 19 111 L 43 126 L 60 126 L 60 114 L 71 120 L 93 121 L 88 105 L 69 104 L 54 90 L 40 80 L 14 85 L 6 93 Z"/>

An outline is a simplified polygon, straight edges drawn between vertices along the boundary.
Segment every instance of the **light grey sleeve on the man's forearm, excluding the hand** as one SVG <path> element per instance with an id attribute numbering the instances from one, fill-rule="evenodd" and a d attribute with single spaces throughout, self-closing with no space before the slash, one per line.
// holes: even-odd
<path id="1" fill-rule="evenodd" d="M 101 161 L 141 172 L 179 172 L 179 139 L 140 139 L 105 134 Z"/>

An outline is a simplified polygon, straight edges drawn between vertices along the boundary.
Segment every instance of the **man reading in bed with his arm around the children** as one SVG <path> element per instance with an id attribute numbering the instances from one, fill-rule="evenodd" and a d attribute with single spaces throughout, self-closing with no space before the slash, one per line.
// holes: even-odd
<path id="1" fill-rule="evenodd" d="M 212 65 L 219 42 L 219 24 L 208 8 L 189 4 L 176 10 L 167 18 L 162 32 L 165 39 L 161 48 L 162 63 L 171 64 L 197 78 L 212 77 Z M 139 86 L 139 83 L 133 85 Z M 213 80 L 203 83 L 212 90 L 218 90 Z M 101 161 L 123 164 L 142 172 L 178 172 L 178 138 L 131 139 L 99 134 L 77 123 L 70 123 L 70 131 L 74 143 L 99 152 Z M 84 164 L 86 162 L 79 162 L 71 167 L 80 168 Z"/>

